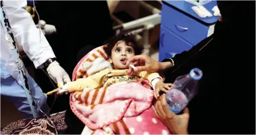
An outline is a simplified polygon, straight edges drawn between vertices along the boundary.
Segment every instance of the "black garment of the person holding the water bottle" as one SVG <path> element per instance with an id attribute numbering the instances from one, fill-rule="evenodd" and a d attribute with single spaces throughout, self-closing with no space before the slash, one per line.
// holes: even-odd
<path id="1" fill-rule="evenodd" d="M 255 7 L 251 10 L 254 14 Z M 173 57 L 166 82 L 192 68 L 203 71 L 198 94 L 188 104 L 189 134 L 255 134 L 255 14 L 248 18 L 217 22 L 212 36 Z"/>

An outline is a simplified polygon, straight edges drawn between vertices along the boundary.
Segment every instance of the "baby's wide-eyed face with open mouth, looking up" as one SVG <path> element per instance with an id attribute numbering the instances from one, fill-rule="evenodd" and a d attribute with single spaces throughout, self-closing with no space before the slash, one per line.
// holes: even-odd
<path id="1" fill-rule="evenodd" d="M 127 46 L 124 41 L 119 41 L 113 47 L 110 57 L 110 63 L 113 63 L 115 69 L 128 69 L 126 66 L 127 60 L 134 56 L 134 49 Z"/>

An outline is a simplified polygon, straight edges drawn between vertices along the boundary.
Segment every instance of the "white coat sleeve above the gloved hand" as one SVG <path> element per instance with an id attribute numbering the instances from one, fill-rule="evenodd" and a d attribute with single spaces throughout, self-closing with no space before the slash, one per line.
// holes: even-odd
<path id="1" fill-rule="evenodd" d="M 36 28 L 31 15 L 26 11 L 27 1 L 4 0 L 3 2 L 15 40 L 23 47 L 35 68 L 43 68 L 43 63 L 55 57 L 55 54 L 42 31 L 40 36 L 39 29 Z"/>

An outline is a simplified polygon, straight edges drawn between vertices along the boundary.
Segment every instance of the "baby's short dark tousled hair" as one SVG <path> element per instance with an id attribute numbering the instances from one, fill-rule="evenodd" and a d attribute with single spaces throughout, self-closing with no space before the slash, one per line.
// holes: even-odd
<path id="1" fill-rule="evenodd" d="M 118 41 L 124 41 L 127 46 L 131 46 L 134 49 L 135 55 L 139 55 L 143 52 L 143 47 L 138 46 L 135 41 L 135 36 L 132 33 L 127 33 L 109 40 L 108 43 L 103 47 L 108 57 L 111 57 L 112 49 L 115 47 Z"/>

